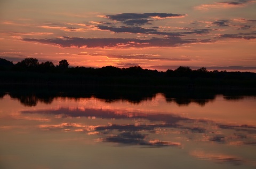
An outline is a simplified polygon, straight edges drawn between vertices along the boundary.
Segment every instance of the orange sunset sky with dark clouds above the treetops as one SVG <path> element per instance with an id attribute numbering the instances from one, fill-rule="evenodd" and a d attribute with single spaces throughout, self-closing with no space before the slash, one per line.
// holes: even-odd
<path id="1" fill-rule="evenodd" d="M 0 0 L 0 58 L 256 72 L 254 0 Z"/>

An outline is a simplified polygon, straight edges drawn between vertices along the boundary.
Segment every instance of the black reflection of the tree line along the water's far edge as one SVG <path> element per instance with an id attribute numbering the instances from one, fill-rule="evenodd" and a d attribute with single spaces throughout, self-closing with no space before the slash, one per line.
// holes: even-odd
<path id="1" fill-rule="evenodd" d="M 9 91 L 9 92 L 6 92 Z M 115 102 L 117 100 L 127 100 L 131 103 L 140 103 L 144 100 L 155 98 L 157 93 L 165 96 L 166 102 L 174 102 L 179 106 L 188 106 L 190 103 L 196 103 L 205 106 L 206 103 L 214 101 L 215 96 L 223 94 L 226 100 L 243 99 L 245 95 L 256 95 L 255 92 L 246 93 L 238 91 L 207 91 L 207 90 L 156 90 L 154 88 L 70 88 L 58 89 L 48 88 L 5 90 L 0 92 L 0 98 L 5 94 L 9 94 L 11 98 L 18 99 L 25 106 L 36 106 L 38 102 L 51 104 L 55 98 L 98 98 L 105 102 Z"/>

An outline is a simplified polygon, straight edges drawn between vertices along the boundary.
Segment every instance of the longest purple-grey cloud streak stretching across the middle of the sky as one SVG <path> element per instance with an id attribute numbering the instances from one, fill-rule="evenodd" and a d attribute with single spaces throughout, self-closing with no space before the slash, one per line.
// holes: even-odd
<path id="1" fill-rule="evenodd" d="M 24 38 L 25 42 L 38 42 L 43 44 L 59 45 L 61 47 L 87 47 L 87 48 L 107 48 L 107 47 L 170 47 L 180 46 L 182 44 L 199 43 L 203 40 L 198 39 L 181 39 L 179 37 L 169 38 L 151 38 L 151 39 L 137 39 L 137 38 L 79 38 L 79 37 L 62 37 L 62 38 L 46 38 L 33 39 Z"/>

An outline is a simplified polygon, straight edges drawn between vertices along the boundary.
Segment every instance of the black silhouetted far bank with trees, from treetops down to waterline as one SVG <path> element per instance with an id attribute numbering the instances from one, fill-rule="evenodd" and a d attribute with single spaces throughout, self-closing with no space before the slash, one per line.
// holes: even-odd
<path id="1" fill-rule="evenodd" d="M 5 84 L 36 85 L 139 85 L 195 87 L 255 88 L 256 74 L 250 72 L 208 71 L 205 67 L 192 70 L 182 67 L 157 71 L 139 66 L 118 68 L 68 67 L 67 60 L 39 63 L 26 58 L 16 64 L 0 58 L 0 78 Z"/>

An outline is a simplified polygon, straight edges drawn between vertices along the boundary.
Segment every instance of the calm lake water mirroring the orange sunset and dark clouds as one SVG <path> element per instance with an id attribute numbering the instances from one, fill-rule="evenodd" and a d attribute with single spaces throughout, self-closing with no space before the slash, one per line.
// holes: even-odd
<path id="1" fill-rule="evenodd" d="M 255 103 L 4 94 L 0 168 L 256 168 Z"/>

